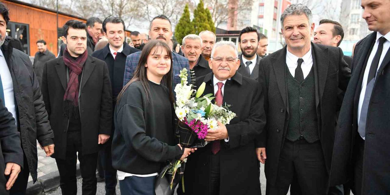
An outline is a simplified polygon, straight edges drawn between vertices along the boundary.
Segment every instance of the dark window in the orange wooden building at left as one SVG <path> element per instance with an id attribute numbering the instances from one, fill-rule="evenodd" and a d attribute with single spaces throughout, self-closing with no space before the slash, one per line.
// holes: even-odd
<path id="1" fill-rule="evenodd" d="M 7 34 L 12 39 L 20 41 L 23 51 L 30 55 L 30 33 L 28 24 L 9 22 L 7 24 Z"/>

